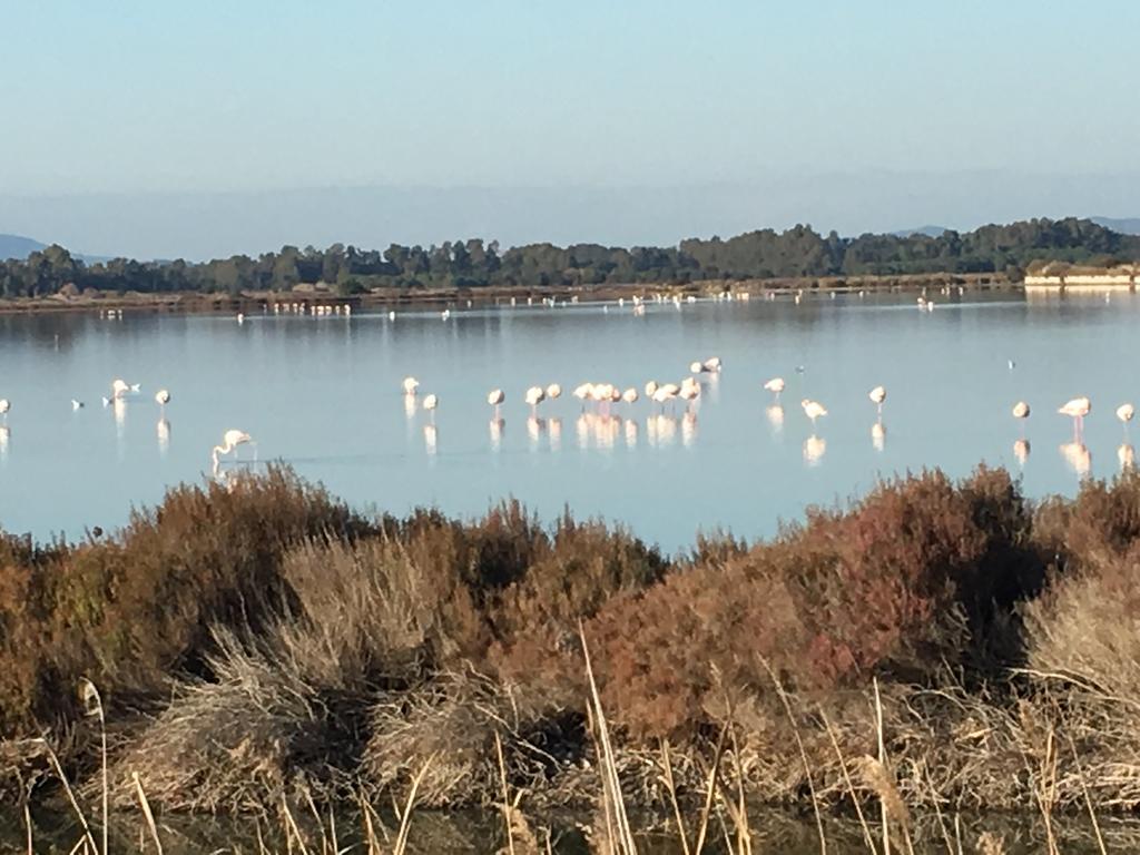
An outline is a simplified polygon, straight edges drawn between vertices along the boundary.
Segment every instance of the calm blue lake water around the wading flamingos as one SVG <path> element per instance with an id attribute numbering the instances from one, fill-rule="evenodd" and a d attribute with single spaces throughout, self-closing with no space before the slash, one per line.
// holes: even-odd
<path id="1" fill-rule="evenodd" d="M 125 312 L 0 318 L 0 526 L 46 538 L 123 523 L 169 484 L 210 477 L 226 429 L 363 506 L 434 505 L 474 515 L 514 496 L 552 519 L 627 523 L 667 551 L 717 528 L 756 538 L 809 504 L 858 496 L 880 477 L 939 466 L 964 475 L 980 461 L 1021 472 L 1033 496 L 1072 494 L 1081 470 L 1119 470 L 1117 405 L 1140 397 L 1140 299 L 914 295 L 769 302 L 455 308 L 308 317 Z M 695 408 L 644 399 L 583 414 L 584 381 L 642 389 L 679 382 L 694 359 L 718 356 Z M 1009 367 L 1009 360 L 1016 367 Z M 801 370 L 798 370 L 801 368 Z M 434 392 L 431 417 L 407 410 L 405 375 Z M 782 421 L 768 377 L 787 380 Z M 140 384 L 104 407 L 112 378 Z M 530 420 L 524 390 L 560 383 L 563 397 Z M 883 431 L 868 390 L 885 384 Z M 500 386 L 502 425 L 486 398 Z M 154 393 L 171 391 L 164 418 Z M 1066 443 L 1056 413 L 1088 394 L 1088 457 Z M 85 402 L 72 409 L 71 400 Z M 801 398 L 830 415 L 813 427 Z M 1028 456 L 1016 453 L 1024 425 Z M 1138 429 L 1140 430 L 1140 429 Z M 814 437 L 814 439 L 813 439 Z M 1024 448 L 1024 447 L 1023 447 Z M 250 449 L 245 449 L 250 456 Z"/>

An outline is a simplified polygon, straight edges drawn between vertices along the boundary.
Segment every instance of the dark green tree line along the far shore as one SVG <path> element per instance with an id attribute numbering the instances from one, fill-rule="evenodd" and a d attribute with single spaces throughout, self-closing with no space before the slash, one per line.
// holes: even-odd
<path id="1" fill-rule="evenodd" d="M 97 292 L 288 291 L 325 283 L 340 294 L 377 287 L 478 288 L 603 284 L 683 284 L 700 279 L 995 272 L 1019 276 L 1031 262 L 1110 264 L 1140 260 L 1140 236 L 1091 220 L 1034 219 L 940 236 L 824 236 L 811 226 L 760 229 L 722 239 L 690 238 L 677 246 L 632 249 L 600 244 L 528 244 L 502 250 L 479 238 L 440 245 L 361 250 L 283 246 L 256 258 L 205 262 L 113 259 L 84 263 L 62 246 L 0 261 L 0 296 Z"/>

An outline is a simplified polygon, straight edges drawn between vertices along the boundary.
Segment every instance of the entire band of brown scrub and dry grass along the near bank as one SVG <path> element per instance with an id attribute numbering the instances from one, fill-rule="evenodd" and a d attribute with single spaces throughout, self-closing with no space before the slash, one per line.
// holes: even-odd
<path id="1" fill-rule="evenodd" d="M 592 798 L 581 628 L 643 800 L 661 739 L 699 791 L 732 722 L 725 763 L 763 799 L 846 800 L 893 773 L 907 801 L 1025 806 L 1056 767 L 1050 798 L 1076 805 L 1072 738 L 1098 797 L 1137 805 L 1138 484 L 1035 510 L 1003 471 L 927 472 L 675 560 L 518 503 L 373 522 L 287 471 L 179 488 L 111 538 L 0 538 L 0 758 L 42 774 L 19 738 L 47 725 L 97 792 L 73 700 L 91 676 L 124 806 L 133 774 L 184 809 L 386 800 L 429 759 L 424 801 L 487 804 L 497 740 L 531 804 Z M 839 756 L 877 752 L 872 678 L 894 765 L 858 783 Z"/>

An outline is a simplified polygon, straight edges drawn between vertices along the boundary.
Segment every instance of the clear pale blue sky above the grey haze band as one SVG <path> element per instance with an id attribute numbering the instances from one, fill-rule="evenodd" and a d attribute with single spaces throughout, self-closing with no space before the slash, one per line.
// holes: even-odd
<path id="1" fill-rule="evenodd" d="M 1140 147 L 1127 0 L 52 0 L 0 27 L 9 199 L 1048 182 Z"/>

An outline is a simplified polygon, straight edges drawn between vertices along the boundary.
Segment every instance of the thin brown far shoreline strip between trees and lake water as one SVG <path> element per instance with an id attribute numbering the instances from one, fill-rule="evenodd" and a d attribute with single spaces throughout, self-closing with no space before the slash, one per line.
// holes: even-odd
<path id="1" fill-rule="evenodd" d="M 487 286 L 461 288 L 377 288 L 364 294 L 341 295 L 332 287 L 298 286 L 293 291 L 249 291 L 228 293 L 173 292 L 162 294 L 101 292 L 98 295 L 18 298 L 0 300 L 0 315 L 33 315 L 54 312 L 99 312 L 108 310 L 211 314 L 236 312 L 270 308 L 275 303 L 315 306 L 350 306 L 356 310 L 394 309 L 400 307 L 447 307 L 471 302 L 472 306 L 502 304 L 544 299 L 577 302 L 612 302 L 635 295 L 661 294 L 712 298 L 731 292 L 733 295 L 790 295 L 806 293 L 878 293 L 915 292 L 922 288 L 961 287 L 966 291 L 1020 291 L 1024 285 L 1003 274 L 919 274 L 897 276 L 800 277 L 772 279 L 702 279 L 691 283 L 628 283 L 614 285 L 559 285 L 559 286 Z"/>

